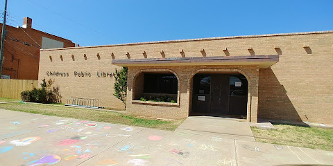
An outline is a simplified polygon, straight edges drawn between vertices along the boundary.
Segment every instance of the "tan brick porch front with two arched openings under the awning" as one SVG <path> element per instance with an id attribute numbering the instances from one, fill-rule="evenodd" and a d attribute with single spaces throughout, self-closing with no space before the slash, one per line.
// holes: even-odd
<path id="1" fill-rule="evenodd" d="M 167 70 L 165 70 L 167 69 Z M 258 87 L 258 66 L 146 66 L 146 67 L 129 67 L 128 68 L 128 99 L 133 98 L 133 81 L 135 75 L 140 72 L 163 72 L 173 71 L 178 76 L 179 98 L 178 106 L 162 105 L 162 104 L 142 104 L 133 103 L 133 100 L 127 100 L 127 113 L 137 116 L 148 116 L 157 118 L 173 118 L 181 119 L 189 116 L 189 102 L 191 100 L 190 89 L 192 84 L 190 81 L 196 73 L 242 73 L 248 78 L 249 101 L 248 120 L 257 122 L 257 87 Z M 140 79 L 140 77 L 139 77 Z M 135 89 L 139 89 L 136 86 Z M 134 90 L 135 90 L 134 89 Z M 164 104 L 164 103 L 163 103 Z"/>

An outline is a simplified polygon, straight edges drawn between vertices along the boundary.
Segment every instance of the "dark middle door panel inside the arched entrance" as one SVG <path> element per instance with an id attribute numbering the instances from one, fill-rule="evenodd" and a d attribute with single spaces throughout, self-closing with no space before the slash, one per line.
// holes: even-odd
<path id="1" fill-rule="evenodd" d="M 228 114 L 229 75 L 212 74 L 210 111 L 217 114 Z"/>

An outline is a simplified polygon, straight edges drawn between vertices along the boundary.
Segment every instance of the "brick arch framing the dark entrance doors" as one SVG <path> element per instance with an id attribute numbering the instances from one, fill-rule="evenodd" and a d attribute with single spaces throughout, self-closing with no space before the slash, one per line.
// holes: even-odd
<path id="1" fill-rule="evenodd" d="M 247 104 L 247 113 L 246 113 L 246 120 L 248 122 L 251 122 L 251 81 L 250 81 L 250 76 L 248 76 L 248 74 L 245 71 L 242 71 L 238 68 L 225 68 L 225 69 L 209 69 L 209 68 L 201 68 L 198 69 L 194 72 L 191 73 L 191 75 L 189 76 L 189 80 L 187 82 L 187 87 L 189 87 L 189 89 L 191 89 L 191 91 L 189 92 L 189 103 L 192 103 L 192 93 L 193 93 L 193 84 L 191 85 L 191 81 L 193 80 L 194 75 L 196 75 L 197 73 L 200 72 L 218 72 L 218 73 L 234 73 L 234 72 L 238 72 L 242 75 L 244 75 L 244 77 L 246 77 L 246 80 L 248 81 L 248 104 Z M 191 107 L 191 106 L 190 106 Z M 190 109 L 189 109 L 190 111 Z"/>

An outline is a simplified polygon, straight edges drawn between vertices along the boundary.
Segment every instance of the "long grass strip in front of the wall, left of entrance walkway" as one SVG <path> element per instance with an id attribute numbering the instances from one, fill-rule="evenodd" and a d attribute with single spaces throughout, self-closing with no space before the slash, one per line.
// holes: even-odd
<path id="1" fill-rule="evenodd" d="M 52 104 L 30 104 L 30 103 L 7 103 L 0 104 L 1 109 L 37 113 L 47 116 L 60 116 L 66 118 L 76 118 L 80 120 L 92 120 L 96 122 L 109 122 L 114 124 L 125 124 L 137 127 L 148 127 L 173 131 L 182 123 L 183 120 L 163 121 L 136 118 L 126 116 L 123 113 L 112 111 L 101 111 L 96 109 L 82 109 L 72 107 L 59 107 Z"/>

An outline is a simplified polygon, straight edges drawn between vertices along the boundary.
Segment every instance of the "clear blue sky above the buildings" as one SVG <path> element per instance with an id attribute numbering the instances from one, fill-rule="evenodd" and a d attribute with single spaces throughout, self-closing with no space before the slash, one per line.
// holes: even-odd
<path id="1" fill-rule="evenodd" d="M 23 17 L 37 30 L 96 46 L 333 30 L 333 1 L 8 0 L 8 24 L 22 26 Z"/>

